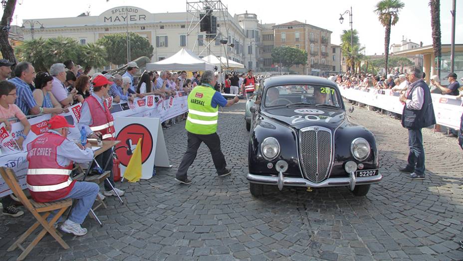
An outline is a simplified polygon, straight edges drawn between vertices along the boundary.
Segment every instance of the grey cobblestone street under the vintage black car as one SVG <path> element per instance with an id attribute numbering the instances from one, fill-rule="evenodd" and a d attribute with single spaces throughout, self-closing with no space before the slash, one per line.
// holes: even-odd
<path id="1" fill-rule="evenodd" d="M 408 154 L 400 121 L 355 106 L 351 120 L 375 134 L 384 176 L 366 197 L 344 187 L 280 192 L 275 186 L 253 198 L 245 178 L 244 104 L 219 115 L 231 176 L 217 177 L 203 144 L 189 170 L 193 184 L 175 182 L 187 146 L 185 121 L 177 123 L 164 130 L 171 169 L 157 168 L 148 181 L 117 184 L 126 205 L 107 198 L 108 208 L 96 212 L 102 228 L 87 218 L 87 235 L 64 235 L 69 250 L 46 236 L 26 260 L 463 260 L 457 139 L 423 130 L 426 179 L 412 181 L 398 171 Z M 6 249 L 32 221 L 27 211 L 17 219 L 0 217 L 0 260 L 17 258 L 20 251 Z"/>

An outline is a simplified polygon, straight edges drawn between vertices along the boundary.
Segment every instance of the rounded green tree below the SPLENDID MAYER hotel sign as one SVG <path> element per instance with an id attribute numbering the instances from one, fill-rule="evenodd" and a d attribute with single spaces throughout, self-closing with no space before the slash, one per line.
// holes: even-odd
<path id="1" fill-rule="evenodd" d="M 129 33 L 130 57 L 134 60 L 141 56 L 151 58 L 153 46 L 148 39 L 134 32 Z M 98 44 L 106 48 L 108 61 L 113 64 L 124 64 L 127 62 L 127 35 L 125 33 L 114 33 L 98 39 Z"/>

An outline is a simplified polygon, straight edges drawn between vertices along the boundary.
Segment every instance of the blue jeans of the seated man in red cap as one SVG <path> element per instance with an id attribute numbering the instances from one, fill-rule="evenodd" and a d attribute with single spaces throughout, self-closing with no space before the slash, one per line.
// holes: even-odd
<path id="1" fill-rule="evenodd" d="M 69 215 L 68 219 L 77 224 L 82 224 L 87 217 L 88 212 L 92 208 L 99 190 L 100 187 L 98 184 L 93 182 L 77 181 L 74 183 L 74 187 L 72 188 L 71 192 L 69 192 L 66 197 L 59 199 L 76 200 L 74 202 L 74 207 L 71 210 L 71 215 Z M 50 222 L 50 220 L 57 212 L 58 211 L 53 211 L 50 216 L 47 217 L 47 221 Z"/>

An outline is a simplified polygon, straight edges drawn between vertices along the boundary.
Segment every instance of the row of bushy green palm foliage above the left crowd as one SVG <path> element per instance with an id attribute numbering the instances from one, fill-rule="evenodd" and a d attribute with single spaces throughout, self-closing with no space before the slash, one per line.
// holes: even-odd
<path id="1" fill-rule="evenodd" d="M 36 71 L 48 71 L 53 63 L 67 59 L 85 67 L 102 67 L 108 64 L 106 50 L 97 44 L 81 45 L 70 37 L 32 39 L 16 48 L 21 61 L 32 63 Z"/>

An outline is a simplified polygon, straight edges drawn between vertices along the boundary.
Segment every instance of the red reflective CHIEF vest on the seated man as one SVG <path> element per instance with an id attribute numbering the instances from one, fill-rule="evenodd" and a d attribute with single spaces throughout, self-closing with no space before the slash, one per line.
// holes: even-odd
<path id="1" fill-rule="evenodd" d="M 75 181 L 69 176 L 72 161 L 66 167 L 59 166 L 56 161 L 56 148 L 64 139 L 58 134 L 47 132 L 27 145 L 29 169 L 26 182 L 30 196 L 36 202 L 59 200 L 74 187 Z"/>

